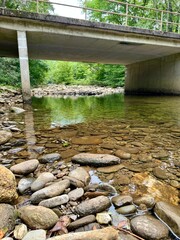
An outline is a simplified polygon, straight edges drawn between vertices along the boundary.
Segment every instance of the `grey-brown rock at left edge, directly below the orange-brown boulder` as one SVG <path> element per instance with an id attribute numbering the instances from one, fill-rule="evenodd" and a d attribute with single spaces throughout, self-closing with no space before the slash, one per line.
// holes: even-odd
<path id="1" fill-rule="evenodd" d="M 15 220 L 14 208 L 9 204 L 0 204 L 0 229 L 8 228 L 8 231 L 12 231 Z"/>

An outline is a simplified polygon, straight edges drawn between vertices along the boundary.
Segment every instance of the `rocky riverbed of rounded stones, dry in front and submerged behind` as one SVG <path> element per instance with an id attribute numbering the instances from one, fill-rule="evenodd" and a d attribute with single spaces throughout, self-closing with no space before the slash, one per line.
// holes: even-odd
<path id="1" fill-rule="evenodd" d="M 33 133 L 19 92 L 1 88 L 0 107 L 0 239 L 180 238 L 178 128 L 109 120 Z"/>

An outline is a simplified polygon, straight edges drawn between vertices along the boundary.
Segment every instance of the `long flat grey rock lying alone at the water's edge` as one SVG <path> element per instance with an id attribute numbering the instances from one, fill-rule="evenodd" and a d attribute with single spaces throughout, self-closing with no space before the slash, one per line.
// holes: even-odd
<path id="1" fill-rule="evenodd" d="M 120 159 L 109 154 L 80 153 L 72 158 L 75 163 L 91 166 L 107 166 L 120 163 Z"/>

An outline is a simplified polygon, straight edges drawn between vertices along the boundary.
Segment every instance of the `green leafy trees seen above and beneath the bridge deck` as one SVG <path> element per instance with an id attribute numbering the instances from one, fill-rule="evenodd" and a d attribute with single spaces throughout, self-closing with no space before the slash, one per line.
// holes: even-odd
<path id="1" fill-rule="evenodd" d="M 118 2 L 118 1 L 117 1 Z M 163 9 L 170 12 L 180 12 L 180 1 L 177 0 L 120 0 L 119 2 L 128 2 L 148 8 Z M 102 9 L 105 11 L 125 13 L 126 6 L 118 5 L 117 3 L 108 2 L 106 0 L 79 0 L 81 6 Z M 26 2 L 26 0 L 0 0 L 0 6 L 18 9 L 22 11 L 36 11 L 35 2 Z M 43 3 L 40 5 L 40 13 L 53 14 L 52 4 Z M 158 18 L 158 12 L 144 11 L 138 8 L 132 8 L 131 14 L 143 17 Z M 172 19 L 171 14 L 164 15 L 168 21 L 178 22 L 179 19 Z M 86 12 L 86 19 L 91 21 L 101 21 L 113 24 L 124 24 L 124 18 L 118 15 L 107 15 L 102 12 Z M 148 28 L 156 30 L 158 27 L 155 22 L 141 21 L 140 19 L 132 18 L 129 20 L 130 26 Z M 167 29 L 166 29 L 167 30 Z M 169 31 L 173 31 L 169 25 Z M 111 87 L 123 87 L 125 79 L 125 67 L 122 65 L 111 65 L 101 63 L 77 63 L 63 61 L 44 61 L 44 60 L 29 60 L 30 79 L 32 86 L 44 84 L 82 84 L 82 85 L 99 85 Z M 19 87 L 20 81 L 20 66 L 18 59 L 0 58 L 0 84 Z"/>

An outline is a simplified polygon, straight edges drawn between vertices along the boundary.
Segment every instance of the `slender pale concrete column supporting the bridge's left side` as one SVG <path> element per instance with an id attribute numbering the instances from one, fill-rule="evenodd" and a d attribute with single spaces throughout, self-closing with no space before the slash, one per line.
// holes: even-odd
<path id="1" fill-rule="evenodd" d="M 30 102 L 31 86 L 30 86 L 29 59 L 28 59 L 26 32 L 17 31 L 17 39 L 18 39 L 19 61 L 20 61 L 20 69 L 21 69 L 23 101 Z"/>

